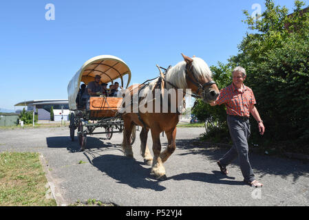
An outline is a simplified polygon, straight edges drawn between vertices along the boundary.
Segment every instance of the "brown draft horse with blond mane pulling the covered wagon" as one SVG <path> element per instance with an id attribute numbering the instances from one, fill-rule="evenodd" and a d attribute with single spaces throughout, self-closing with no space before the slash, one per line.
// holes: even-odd
<path id="1" fill-rule="evenodd" d="M 191 89 L 192 94 L 195 97 L 202 98 L 204 102 L 212 102 L 217 99 L 219 96 L 219 90 L 215 82 L 212 80 L 211 70 L 208 65 L 201 59 L 193 56 L 193 58 L 189 58 L 188 56 L 184 56 L 182 54 L 184 61 L 175 65 L 175 67 L 171 67 L 168 69 L 167 73 L 161 76 L 162 83 L 160 84 L 161 90 L 159 91 L 167 91 L 169 89 Z M 149 89 L 153 91 L 154 88 L 158 88 L 158 81 L 160 81 L 160 77 L 156 80 L 153 80 L 149 85 L 133 85 L 129 87 L 130 96 L 134 96 L 134 94 L 138 94 L 142 92 L 146 94 Z M 134 86 L 138 89 L 132 89 Z M 164 90 L 162 89 L 164 87 Z M 144 91 L 140 91 L 140 89 Z M 128 93 L 127 93 L 128 94 Z M 184 92 L 177 94 L 177 96 L 182 96 L 183 99 L 185 96 Z M 139 94 L 140 97 L 140 94 Z M 146 96 L 142 96 L 146 98 Z M 164 101 L 161 96 L 162 102 Z M 147 99 L 147 98 L 146 98 Z M 168 98 L 168 104 L 171 105 L 172 102 L 176 102 L 177 106 L 181 105 L 179 103 L 178 98 L 175 100 L 171 100 Z M 147 100 L 147 103 L 153 102 L 153 109 L 155 105 L 155 100 Z M 123 101 L 122 101 L 123 103 Z M 140 100 L 138 101 L 140 103 Z M 166 103 L 166 102 L 165 102 Z M 146 104 L 147 105 L 147 104 Z M 123 104 L 122 104 L 123 107 Z M 132 110 L 132 108 L 131 108 Z M 171 109 L 167 111 L 167 113 L 162 112 L 162 103 L 160 106 L 160 111 L 152 111 L 152 112 L 140 112 L 134 113 L 133 111 L 125 112 L 122 114 L 122 120 L 124 120 L 124 131 L 123 131 L 123 140 L 122 140 L 122 149 L 127 157 L 133 157 L 132 146 L 130 144 L 130 135 L 132 130 L 135 129 L 136 125 L 142 126 L 142 131 L 140 132 L 140 154 L 144 157 L 144 162 L 148 165 L 152 164 L 151 167 L 151 175 L 154 175 L 156 179 L 164 180 L 167 178 L 165 174 L 165 168 L 163 163 L 167 161 L 167 159 L 171 156 L 171 154 L 175 151 L 175 137 L 176 137 L 176 125 L 179 122 L 180 112 L 172 112 Z M 149 129 L 151 130 L 151 137 L 153 140 L 153 157 L 147 147 L 147 136 Z M 161 143 L 160 143 L 160 133 L 166 133 L 168 146 L 161 153 Z"/>

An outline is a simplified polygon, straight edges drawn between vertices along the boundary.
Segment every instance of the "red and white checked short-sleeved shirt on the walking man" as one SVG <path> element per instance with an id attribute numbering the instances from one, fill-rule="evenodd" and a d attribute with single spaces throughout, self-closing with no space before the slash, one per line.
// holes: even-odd
<path id="1" fill-rule="evenodd" d="M 250 117 L 250 111 L 255 101 L 252 89 L 246 87 L 239 91 L 233 83 L 220 90 L 220 96 L 215 101 L 216 104 L 225 104 L 228 115 Z"/>

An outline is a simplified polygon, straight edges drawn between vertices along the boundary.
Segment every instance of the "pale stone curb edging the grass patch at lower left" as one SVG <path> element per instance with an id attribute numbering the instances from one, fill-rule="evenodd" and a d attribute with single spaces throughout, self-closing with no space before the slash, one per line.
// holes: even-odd
<path id="1" fill-rule="evenodd" d="M 45 172 L 47 184 L 50 188 L 49 190 L 52 194 L 52 197 L 56 200 L 57 206 L 67 206 L 67 202 L 65 201 L 65 199 L 63 199 L 61 192 L 58 190 L 58 188 L 54 184 L 54 179 L 52 178 L 50 170 L 48 170 L 47 162 L 46 162 L 44 156 L 41 153 L 40 153 L 39 158 L 40 158 L 41 164 L 43 166 L 43 170 Z"/>

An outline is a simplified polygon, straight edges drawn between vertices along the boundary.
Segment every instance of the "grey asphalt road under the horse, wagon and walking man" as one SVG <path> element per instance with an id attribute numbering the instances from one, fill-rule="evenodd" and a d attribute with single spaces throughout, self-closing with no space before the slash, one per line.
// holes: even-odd
<path id="1" fill-rule="evenodd" d="M 308 162 L 251 153 L 255 175 L 264 184 L 251 188 L 237 160 L 228 166 L 228 176 L 220 173 L 216 160 L 228 149 L 198 142 L 203 132 L 178 128 L 177 149 L 164 164 L 165 181 L 153 179 L 143 164 L 139 138 L 135 159 L 123 157 L 120 133 L 111 140 L 89 136 L 87 150 L 80 152 L 67 127 L 0 130 L 0 152 L 41 153 L 59 205 L 98 199 L 119 206 L 309 206 Z M 167 139 L 161 138 L 164 148 Z"/>

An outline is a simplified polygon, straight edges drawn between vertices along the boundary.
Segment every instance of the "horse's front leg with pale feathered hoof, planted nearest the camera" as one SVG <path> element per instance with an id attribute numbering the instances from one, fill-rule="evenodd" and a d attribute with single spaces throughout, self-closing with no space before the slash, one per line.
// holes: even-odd
<path id="1" fill-rule="evenodd" d="M 163 166 L 162 160 L 160 158 L 161 143 L 160 143 L 160 132 L 153 130 L 151 128 L 152 136 L 152 150 L 153 150 L 153 162 L 151 167 L 151 174 L 156 177 L 156 179 L 164 180 L 167 178 L 165 175 L 165 168 Z"/>

